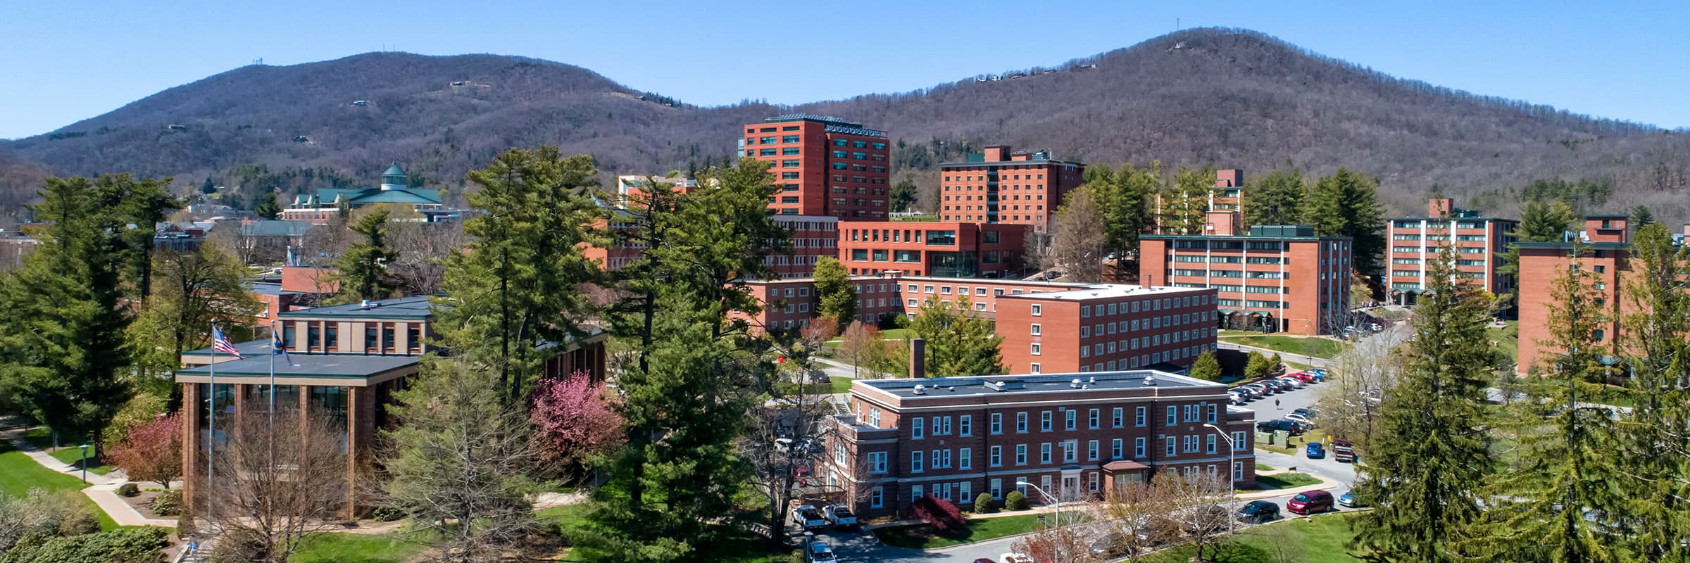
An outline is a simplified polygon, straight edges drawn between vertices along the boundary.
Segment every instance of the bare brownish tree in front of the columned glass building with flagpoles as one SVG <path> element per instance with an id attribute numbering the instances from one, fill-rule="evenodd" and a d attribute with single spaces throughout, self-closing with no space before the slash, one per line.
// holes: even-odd
<path id="1" fill-rule="evenodd" d="M 218 555 L 284 563 L 309 536 L 343 516 L 346 484 L 345 424 L 324 413 L 277 406 L 232 416 L 228 440 L 213 456 L 206 514 L 218 531 Z"/>

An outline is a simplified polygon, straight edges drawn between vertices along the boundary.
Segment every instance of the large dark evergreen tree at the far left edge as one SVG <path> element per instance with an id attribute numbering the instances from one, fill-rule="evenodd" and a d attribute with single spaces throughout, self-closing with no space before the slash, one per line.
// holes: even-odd
<path id="1" fill-rule="evenodd" d="M 49 178 L 42 203 L 29 206 L 47 223 L 41 247 L 0 279 L 0 394 L 54 433 L 95 436 L 128 401 L 120 374 L 134 216 L 112 189 L 125 181 Z"/>

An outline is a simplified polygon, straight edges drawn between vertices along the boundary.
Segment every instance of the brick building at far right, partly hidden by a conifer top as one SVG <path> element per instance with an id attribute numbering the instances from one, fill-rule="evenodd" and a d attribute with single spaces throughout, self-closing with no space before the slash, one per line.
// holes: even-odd
<path id="1" fill-rule="evenodd" d="M 1577 265 L 1595 274 L 1592 289 L 1600 292 L 1609 308 L 1609 321 L 1595 331 L 1609 355 L 1617 352 L 1619 313 L 1626 304 L 1624 286 L 1631 277 L 1631 232 L 1626 215 L 1585 215 L 1584 230 L 1567 233 L 1563 242 L 1518 242 L 1519 247 L 1519 353 L 1516 370 L 1524 374 L 1543 367 L 1545 358 L 1560 353 L 1546 350 L 1541 342 L 1550 338 L 1550 306 L 1560 301 L 1555 284 L 1575 264 L 1573 237 L 1580 238 L 1584 255 Z"/>

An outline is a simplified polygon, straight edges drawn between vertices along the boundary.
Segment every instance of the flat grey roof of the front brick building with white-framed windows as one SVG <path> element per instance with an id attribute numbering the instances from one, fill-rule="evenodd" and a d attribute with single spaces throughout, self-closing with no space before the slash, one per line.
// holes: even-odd
<path id="1" fill-rule="evenodd" d="M 1080 382 L 1075 387 L 1075 382 Z M 1002 384 L 1002 389 L 997 387 Z M 859 379 L 853 385 L 867 385 L 899 399 L 914 397 L 972 397 L 1033 392 L 1073 392 L 1078 389 L 1227 389 L 1224 384 L 1175 375 L 1158 370 L 1088 372 L 1088 374 L 1029 374 L 1029 375 L 975 375 L 975 377 L 923 377 L 923 379 Z M 916 387 L 921 392 L 916 392 Z"/>

